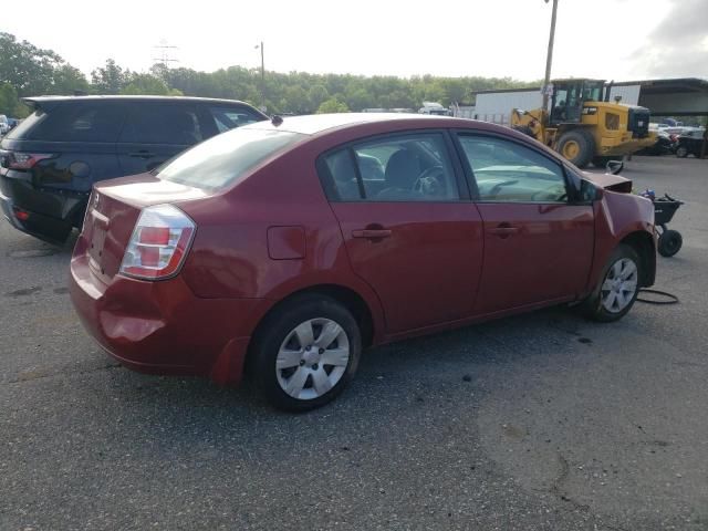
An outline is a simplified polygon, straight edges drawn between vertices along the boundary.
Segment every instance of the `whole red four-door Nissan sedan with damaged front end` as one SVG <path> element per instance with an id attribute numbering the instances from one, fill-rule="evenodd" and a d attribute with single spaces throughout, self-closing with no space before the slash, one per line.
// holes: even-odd
<path id="1" fill-rule="evenodd" d="M 655 277 L 652 204 L 467 119 L 275 117 L 95 186 L 71 263 L 126 366 L 339 395 L 362 348 L 560 303 L 600 321 Z"/>

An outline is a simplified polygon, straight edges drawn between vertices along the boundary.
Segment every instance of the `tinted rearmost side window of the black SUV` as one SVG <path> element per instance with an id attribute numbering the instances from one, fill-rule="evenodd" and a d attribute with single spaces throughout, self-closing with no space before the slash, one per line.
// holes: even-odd
<path id="1" fill-rule="evenodd" d="M 125 119 L 125 105 L 113 102 L 74 102 L 37 111 L 11 138 L 48 142 L 116 142 Z"/>

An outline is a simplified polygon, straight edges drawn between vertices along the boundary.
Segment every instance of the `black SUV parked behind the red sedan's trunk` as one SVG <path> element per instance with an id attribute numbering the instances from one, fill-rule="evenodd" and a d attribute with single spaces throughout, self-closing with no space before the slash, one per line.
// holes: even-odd
<path id="1" fill-rule="evenodd" d="M 149 171 L 189 146 L 268 119 L 233 100 L 23 98 L 34 113 L 0 143 L 0 206 L 18 229 L 61 243 L 81 227 L 94 183 Z"/>

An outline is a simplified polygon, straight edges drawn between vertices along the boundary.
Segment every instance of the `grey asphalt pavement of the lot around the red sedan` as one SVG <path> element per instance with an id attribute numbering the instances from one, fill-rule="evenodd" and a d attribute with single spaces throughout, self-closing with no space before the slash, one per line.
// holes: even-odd
<path id="1" fill-rule="evenodd" d="M 0 222 L 0 530 L 707 530 L 708 160 L 635 157 L 686 201 L 657 289 L 375 348 L 332 405 L 133 373 L 83 331 L 70 246 Z"/>

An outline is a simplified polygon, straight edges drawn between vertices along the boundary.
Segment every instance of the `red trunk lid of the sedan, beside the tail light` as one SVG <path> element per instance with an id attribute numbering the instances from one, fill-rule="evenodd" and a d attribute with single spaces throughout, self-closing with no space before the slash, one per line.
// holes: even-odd
<path id="1" fill-rule="evenodd" d="M 108 283 L 118 272 L 143 208 L 204 197 L 207 194 L 201 189 L 160 180 L 150 174 L 96 185 L 88 200 L 81 233 L 93 273 Z"/>

